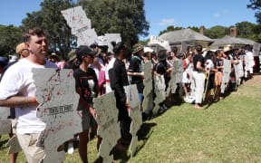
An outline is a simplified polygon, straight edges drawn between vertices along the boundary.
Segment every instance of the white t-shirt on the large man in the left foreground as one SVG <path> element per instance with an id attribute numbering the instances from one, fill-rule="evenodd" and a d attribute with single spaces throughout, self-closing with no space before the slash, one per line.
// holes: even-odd
<path id="1" fill-rule="evenodd" d="M 35 64 L 22 59 L 9 67 L 0 83 L 0 100 L 5 100 L 14 95 L 35 97 L 36 87 L 33 80 L 32 68 L 57 68 L 56 64 L 46 60 L 45 65 Z M 45 128 L 45 123 L 36 117 L 36 107 L 16 107 L 16 131 L 19 134 L 40 133 Z"/>

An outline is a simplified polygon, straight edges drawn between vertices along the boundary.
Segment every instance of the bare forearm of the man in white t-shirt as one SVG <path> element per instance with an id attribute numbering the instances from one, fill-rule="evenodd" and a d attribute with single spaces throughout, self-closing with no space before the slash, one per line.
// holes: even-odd
<path id="1" fill-rule="evenodd" d="M 37 105 L 39 103 L 35 97 L 13 96 L 5 100 L 0 100 L 0 106 L 3 107 L 28 107 Z"/>

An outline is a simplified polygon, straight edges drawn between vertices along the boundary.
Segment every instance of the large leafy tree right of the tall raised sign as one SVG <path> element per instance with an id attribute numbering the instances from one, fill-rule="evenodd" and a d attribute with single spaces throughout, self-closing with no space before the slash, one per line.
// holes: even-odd
<path id="1" fill-rule="evenodd" d="M 150 25 L 145 19 L 143 0 L 80 0 L 98 35 L 121 34 L 124 43 L 138 43 L 147 36 Z"/>

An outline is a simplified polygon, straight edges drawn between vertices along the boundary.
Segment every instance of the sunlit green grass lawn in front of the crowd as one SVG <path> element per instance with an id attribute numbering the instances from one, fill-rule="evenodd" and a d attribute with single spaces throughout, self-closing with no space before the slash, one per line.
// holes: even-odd
<path id="1" fill-rule="evenodd" d="M 139 132 L 138 152 L 118 153 L 117 162 L 261 162 L 261 77 L 240 85 L 224 100 L 196 110 L 183 103 L 146 121 Z M 8 162 L 0 139 L 0 162 Z M 97 158 L 96 139 L 89 144 L 88 158 Z M 25 162 L 21 153 L 18 162 Z M 65 163 L 81 162 L 78 152 L 66 155 Z"/>

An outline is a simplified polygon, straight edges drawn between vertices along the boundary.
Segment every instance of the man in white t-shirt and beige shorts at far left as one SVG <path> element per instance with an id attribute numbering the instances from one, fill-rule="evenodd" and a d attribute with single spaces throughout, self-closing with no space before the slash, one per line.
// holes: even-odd
<path id="1" fill-rule="evenodd" d="M 45 123 L 36 117 L 39 103 L 35 98 L 32 68 L 57 66 L 45 60 L 48 46 L 42 29 L 29 30 L 24 34 L 24 43 L 29 55 L 6 70 L 0 83 L 0 106 L 15 108 L 17 139 L 28 163 L 33 163 L 40 162 L 45 155 L 43 149 L 36 146 Z"/>

